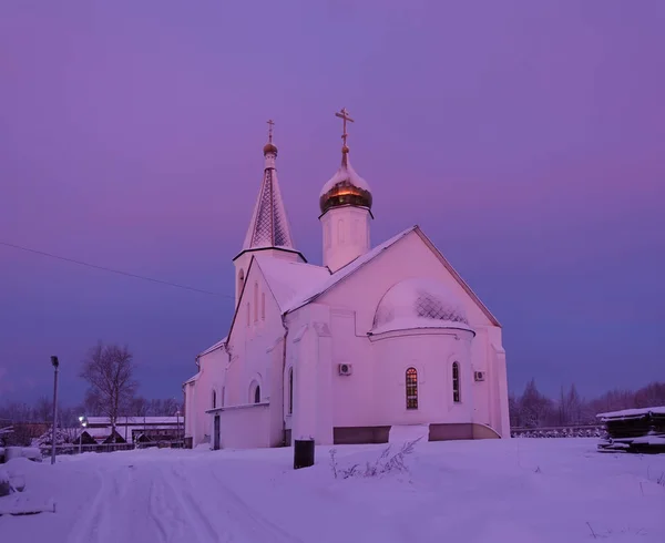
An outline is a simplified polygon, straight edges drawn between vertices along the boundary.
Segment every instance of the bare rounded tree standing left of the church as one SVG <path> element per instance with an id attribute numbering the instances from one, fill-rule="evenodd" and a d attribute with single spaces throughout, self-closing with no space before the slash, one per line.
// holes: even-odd
<path id="1" fill-rule="evenodd" d="M 88 381 L 86 403 L 109 417 L 111 436 L 115 436 L 115 421 L 134 397 L 137 383 L 132 378 L 134 360 L 127 347 L 103 345 L 93 347 L 83 361 L 81 377 Z"/>

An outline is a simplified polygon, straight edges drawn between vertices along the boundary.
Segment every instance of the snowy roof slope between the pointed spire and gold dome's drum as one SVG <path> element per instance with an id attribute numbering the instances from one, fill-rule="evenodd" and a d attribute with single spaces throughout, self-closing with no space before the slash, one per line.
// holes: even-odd
<path id="1" fill-rule="evenodd" d="M 298 293 L 307 291 L 323 284 L 330 277 L 328 268 L 298 262 L 255 255 L 258 267 L 279 305 L 285 311 L 288 304 Z"/>

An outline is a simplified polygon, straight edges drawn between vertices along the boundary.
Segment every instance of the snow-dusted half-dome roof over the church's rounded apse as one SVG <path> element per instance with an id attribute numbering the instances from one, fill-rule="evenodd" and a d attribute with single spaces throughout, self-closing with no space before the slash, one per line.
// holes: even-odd
<path id="1" fill-rule="evenodd" d="M 460 299 L 442 283 L 411 278 L 397 283 L 379 301 L 372 334 L 415 328 L 457 328 L 473 331 Z"/>

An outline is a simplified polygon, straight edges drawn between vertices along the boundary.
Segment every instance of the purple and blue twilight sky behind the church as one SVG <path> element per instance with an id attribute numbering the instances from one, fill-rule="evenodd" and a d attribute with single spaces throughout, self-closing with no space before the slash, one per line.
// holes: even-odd
<path id="1" fill-rule="evenodd" d="M 94 4 L 94 6 L 93 6 Z M 665 3 L 0 3 L 0 242 L 233 295 L 276 122 L 320 263 L 339 162 L 375 244 L 419 224 L 504 327 L 511 390 L 665 379 Z M 84 390 L 98 339 L 181 397 L 233 301 L 0 246 L 0 399 Z"/>

